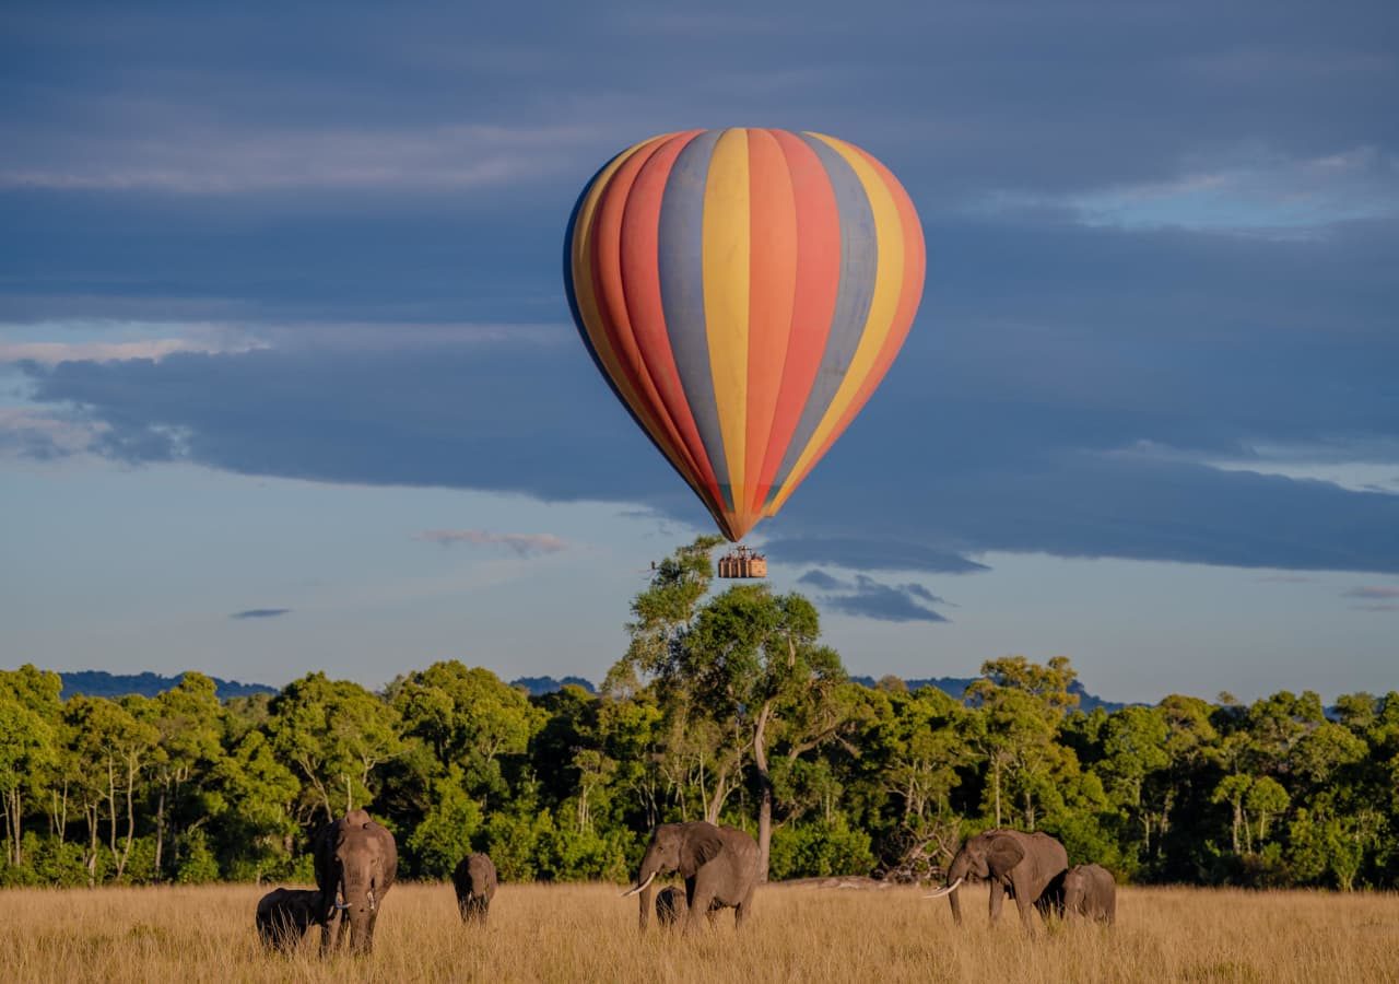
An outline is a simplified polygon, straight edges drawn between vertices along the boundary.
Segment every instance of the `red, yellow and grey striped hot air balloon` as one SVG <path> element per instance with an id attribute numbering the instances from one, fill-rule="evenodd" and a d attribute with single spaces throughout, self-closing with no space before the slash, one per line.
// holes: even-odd
<path id="1" fill-rule="evenodd" d="M 884 378 L 923 262 L 908 193 L 859 147 L 687 130 L 593 176 L 569 220 L 564 280 L 617 398 L 739 540 Z"/>

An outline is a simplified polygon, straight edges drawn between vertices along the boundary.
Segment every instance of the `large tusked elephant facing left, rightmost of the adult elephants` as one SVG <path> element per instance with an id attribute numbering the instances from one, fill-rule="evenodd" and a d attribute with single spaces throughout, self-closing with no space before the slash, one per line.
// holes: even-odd
<path id="1" fill-rule="evenodd" d="M 963 882 L 990 882 L 990 921 L 1000 918 L 1002 896 L 1009 894 L 1020 910 L 1020 921 L 1034 932 L 1031 911 L 1045 906 L 1046 892 L 1055 892 L 1069 868 L 1063 844 L 1048 834 L 1018 830 L 988 830 L 967 838 L 947 868 L 947 886 L 928 896 L 947 896 L 953 921 L 961 925 L 957 889 Z"/>

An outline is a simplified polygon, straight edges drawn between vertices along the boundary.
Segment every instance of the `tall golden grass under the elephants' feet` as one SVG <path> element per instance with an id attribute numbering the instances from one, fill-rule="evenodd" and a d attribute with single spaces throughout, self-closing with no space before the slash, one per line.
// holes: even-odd
<path id="1" fill-rule="evenodd" d="M 968 925 L 914 889 L 768 886 L 753 920 L 683 938 L 637 932 L 609 885 L 501 886 L 481 929 L 449 886 L 399 885 L 375 952 L 263 953 L 266 887 L 0 892 L 0 977 L 14 981 L 1399 981 L 1399 896 L 1123 889 L 1118 924 L 1028 938 L 1007 907 Z"/>

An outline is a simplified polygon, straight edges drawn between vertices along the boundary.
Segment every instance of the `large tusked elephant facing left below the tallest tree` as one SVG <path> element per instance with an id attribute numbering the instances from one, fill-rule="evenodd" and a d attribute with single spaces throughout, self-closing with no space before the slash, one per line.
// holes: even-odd
<path id="1" fill-rule="evenodd" d="M 623 893 L 641 893 L 642 931 L 651 917 L 651 883 L 656 875 L 673 871 L 686 879 L 686 932 L 695 929 L 709 910 L 730 906 L 733 924 L 740 927 L 753 908 L 758 883 L 758 843 L 741 830 L 704 820 L 656 827 L 637 871 L 637 887 Z"/>

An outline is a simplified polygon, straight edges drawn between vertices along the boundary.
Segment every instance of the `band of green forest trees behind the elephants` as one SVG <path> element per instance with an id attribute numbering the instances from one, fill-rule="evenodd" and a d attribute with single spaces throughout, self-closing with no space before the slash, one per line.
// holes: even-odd
<path id="1" fill-rule="evenodd" d="M 477 850 L 505 880 L 624 882 L 653 824 L 708 819 L 757 836 L 772 879 L 935 878 L 1009 826 L 1129 882 L 1399 887 L 1399 693 L 1084 712 L 1067 658 L 1023 656 L 963 701 L 867 687 L 803 596 L 713 591 L 716 546 L 656 565 L 596 696 L 456 661 L 222 703 L 200 673 L 64 700 L 56 673 L 0 672 L 0 883 L 309 882 L 312 831 L 364 806 L 422 879 Z"/>

